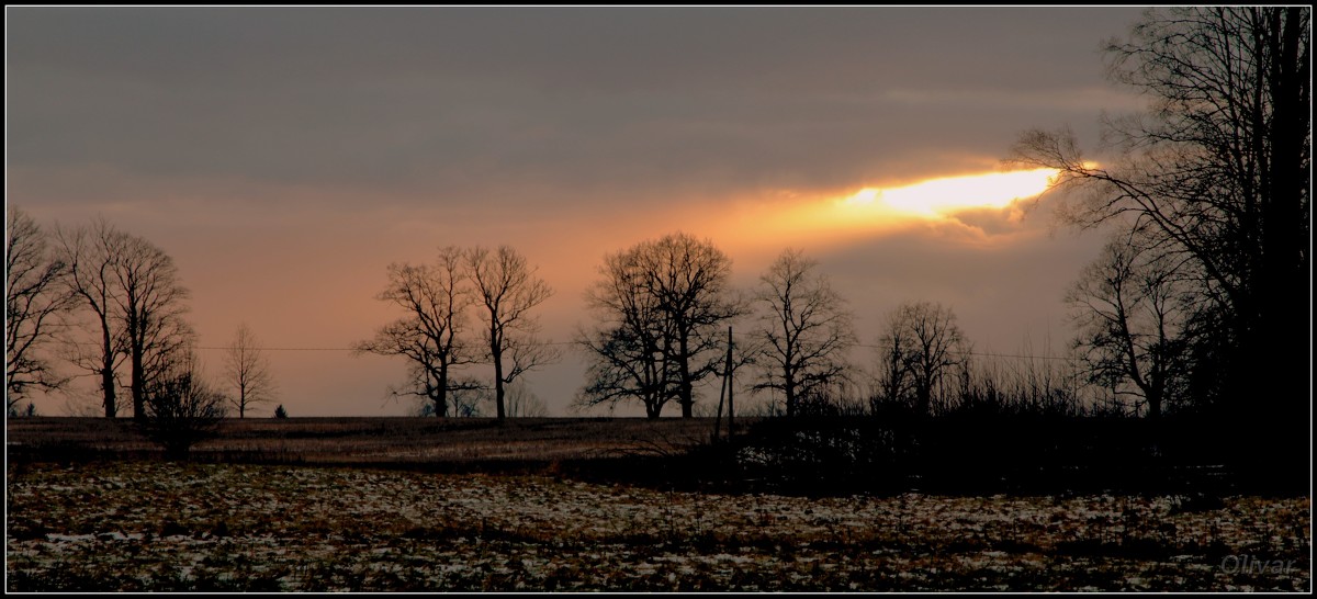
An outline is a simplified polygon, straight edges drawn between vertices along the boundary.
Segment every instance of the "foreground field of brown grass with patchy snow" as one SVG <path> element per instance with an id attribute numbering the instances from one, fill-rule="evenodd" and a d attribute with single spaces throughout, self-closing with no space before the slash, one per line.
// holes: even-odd
<path id="1" fill-rule="evenodd" d="M 8 591 L 1310 591 L 1309 498 L 707 495 L 11 463 Z"/>

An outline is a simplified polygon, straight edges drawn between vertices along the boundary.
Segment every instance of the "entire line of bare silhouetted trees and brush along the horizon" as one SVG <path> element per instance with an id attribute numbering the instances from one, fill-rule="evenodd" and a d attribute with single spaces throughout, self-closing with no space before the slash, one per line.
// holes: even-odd
<path id="1" fill-rule="evenodd" d="M 603 257 L 585 299 L 593 320 L 573 340 L 589 362 L 574 405 L 633 402 L 658 417 L 674 403 L 690 417 L 702 390 L 734 377 L 788 416 L 1197 413 L 1237 423 L 1245 442 L 1281 438 L 1301 450 L 1310 424 L 1309 24 L 1304 7 L 1150 12 L 1108 47 L 1113 79 L 1151 101 L 1106 122 L 1113 155 L 1087 159 L 1068 130 L 1021 136 L 1013 162 L 1055 169 L 1056 187 L 1071 190 L 1063 219 L 1112 234 L 1065 295 L 1077 330 L 1069 361 L 1011 370 L 971 359 L 950 307 L 914 301 L 888 313 L 861 369 L 849 363 L 860 344 L 853 315 L 814 261 L 786 250 L 756 288 L 734 290 L 722 250 L 673 233 Z M 104 221 L 57 230 L 47 244 L 17 211 L 8 241 L 11 411 L 30 390 L 63 384 L 42 346 L 70 328 L 86 336 L 66 358 L 99 377 L 107 416 L 126 388 L 141 417 L 153 386 L 195 362 L 180 358 L 194 337 L 187 290 L 154 245 Z M 408 359 L 411 380 L 394 391 L 424 398 L 435 415 L 470 413 L 471 394 L 491 390 L 506 417 L 507 388 L 560 357 L 539 338 L 535 309 L 552 290 L 508 246 L 445 247 L 432 263 L 390 266 L 378 298 L 403 316 L 356 349 Z M 78 315 L 71 324 L 67 313 Z M 470 313 L 478 317 L 468 323 Z M 732 348 L 728 326 L 739 332 Z M 462 374 L 473 363 L 489 365 L 493 380 Z M 267 387 L 230 405 L 241 415 Z"/>

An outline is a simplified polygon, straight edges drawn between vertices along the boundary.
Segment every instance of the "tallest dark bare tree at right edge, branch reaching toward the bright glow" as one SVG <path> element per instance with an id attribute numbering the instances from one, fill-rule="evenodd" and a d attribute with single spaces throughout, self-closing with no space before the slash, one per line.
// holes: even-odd
<path id="1" fill-rule="evenodd" d="M 1225 324 L 1205 341 L 1230 346 L 1213 363 L 1230 373 L 1216 392 L 1276 402 L 1291 423 L 1308 421 L 1310 407 L 1280 388 L 1309 357 L 1272 348 L 1310 317 L 1310 16 L 1309 7 L 1148 11 L 1108 45 L 1110 78 L 1150 100 L 1144 113 L 1105 121 L 1113 155 L 1094 163 L 1068 130 L 1034 130 L 1013 158 L 1059 169 L 1059 186 L 1083 191 L 1067 204 L 1069 222 L 1148 229 L 1168 259 L 1192 263 Z M 1281 387 L 1256 392 L 1259 383 Z"/>

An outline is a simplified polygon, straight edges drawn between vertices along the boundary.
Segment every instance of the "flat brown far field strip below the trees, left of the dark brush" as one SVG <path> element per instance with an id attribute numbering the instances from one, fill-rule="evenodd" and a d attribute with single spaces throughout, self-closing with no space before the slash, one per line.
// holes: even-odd
<path id="1" fill-rule="evenodd" d="M 740 424 L 740 421 L 738 421 Z M 531 462 L 662 454 L 706 442 L 712 419 L 227 419 L 199 459 L 302 463 Z M 11 458 L 149 456 L 130 419 L 9 419 Z M 724 424 L 726 427 L 726 424 Z"/>

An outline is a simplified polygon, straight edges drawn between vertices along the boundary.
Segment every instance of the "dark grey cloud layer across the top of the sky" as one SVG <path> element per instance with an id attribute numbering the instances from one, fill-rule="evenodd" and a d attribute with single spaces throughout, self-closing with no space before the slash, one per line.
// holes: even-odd
<path id="1" fill-rule="evenodd" d="M 1133 14 L 12 9 L 11 165 L 425 197 L 848 184 L 894 157 L 997 155 L 1023 124 L 1090 122 L 1075 97 Z"/>

